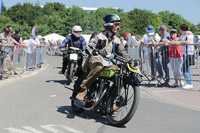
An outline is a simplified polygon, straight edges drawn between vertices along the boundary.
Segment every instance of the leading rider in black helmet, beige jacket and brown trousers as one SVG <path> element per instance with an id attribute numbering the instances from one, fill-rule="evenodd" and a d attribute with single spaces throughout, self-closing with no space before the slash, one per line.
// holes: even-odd
<path id="1" fill-rule="evenodd" d="M 130 59 L 120 39 L 116 36 L 120 28 L 120 18 L 116 14 L 107 14 L 103 18 L 103 27 L 105 31 L 99 32 L 90 39 L 86 48 L 86 53 L 89 54 L 88 67 L 90 69 L 86 80 L 81 84 L 80 92 L 77 94 L 76 99 L 83 101 L 87 94 L 87 89 L 90 88 L 92 83 L 99 76 L 99 73 L 104 67 L 119 69 L 117 66 L 112 65 L 108 58 L 112 57 L 115 53 Z"/>

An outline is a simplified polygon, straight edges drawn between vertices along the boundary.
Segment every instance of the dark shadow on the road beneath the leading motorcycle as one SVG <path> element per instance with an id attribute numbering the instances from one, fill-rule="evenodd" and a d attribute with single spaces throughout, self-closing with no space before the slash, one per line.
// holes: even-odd
<path id="1" fill-rule="evenodd" d="M 82 113 L 75 113 L 72 111 L 71 106 L 60 106 L 57 111 L 62 114 L 66 114 L 67 118 L 74 119 L 75 116 L 81 117 L 83 119 L 94 119 L 96 122 L 108 125 L 107 119 L 102 115 L 96 114 L 93 111 L 83 111 Z"/>

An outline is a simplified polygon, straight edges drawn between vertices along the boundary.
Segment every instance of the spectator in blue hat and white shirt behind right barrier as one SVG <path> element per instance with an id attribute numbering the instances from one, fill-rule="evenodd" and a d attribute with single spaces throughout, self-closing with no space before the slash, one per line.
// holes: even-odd
<path id="1" fill-rule="evenodd" d="M 158 49 L 155 50 L 153 47 L 148 47 L 148 43 L 159 42 L 160 36 L 155 33 L 154 27 L 152 25 L 149 25 L 147 28 L 145 28 L 145 30 L 147 33 L 143 35 L 141 40 L 141 45 L 143 45 L 144 61 L 147 67 L 147 70 L 144 72 L 144 74 L 146 74 L 148 77 L 151 75 L 152 79 L 154 79 L 156 70 L 153 67 L 156 66 L 159 74 L 158 77 L 162 77 L 163 73 L 161 64 L 154 62 L 156 60 L 156 56 L 154 55 L 156 55 Z"/>

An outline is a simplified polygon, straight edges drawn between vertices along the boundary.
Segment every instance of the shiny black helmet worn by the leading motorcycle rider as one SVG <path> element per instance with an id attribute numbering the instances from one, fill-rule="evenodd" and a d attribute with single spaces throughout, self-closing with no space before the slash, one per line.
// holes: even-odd
<path id="1" fill-rule="evenodd" d="M 107 14 L 103 18 L 103 27 L 105 30 L 112 30 L 115 22 L 121 22 L 120 17 L 117 14 Z"/>

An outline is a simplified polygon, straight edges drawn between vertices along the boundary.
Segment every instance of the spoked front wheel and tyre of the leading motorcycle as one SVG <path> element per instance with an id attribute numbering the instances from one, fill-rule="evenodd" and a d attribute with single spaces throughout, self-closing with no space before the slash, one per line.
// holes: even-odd
<path id="1" fill-rule="evenodd" d="M 130 81 L 124 81 L 119 96 L 112 93 L 107 101 L 107 119 L 113 126 L 125 125 L 136 112 L 140 99 L 139 87 Z"/>

